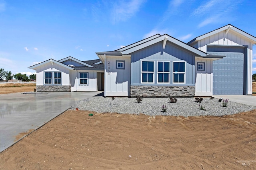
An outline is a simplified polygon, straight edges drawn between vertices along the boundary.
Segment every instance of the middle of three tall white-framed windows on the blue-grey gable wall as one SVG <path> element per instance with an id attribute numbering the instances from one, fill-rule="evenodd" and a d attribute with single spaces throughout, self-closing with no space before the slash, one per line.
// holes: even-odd
<path id="1" fill-rule="evenodd" d="M 170 75 L 170 62 L 158 61 L 157 62 L 157 82 L 169 83 Z"/>

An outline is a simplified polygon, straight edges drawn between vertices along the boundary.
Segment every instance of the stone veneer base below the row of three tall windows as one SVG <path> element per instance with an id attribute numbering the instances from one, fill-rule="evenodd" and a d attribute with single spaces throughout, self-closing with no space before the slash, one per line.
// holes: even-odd
<path id="1" fill-rule="evenodd" d="M 131 97 L 194 97 L 195 86 L 130 86 Z"/>

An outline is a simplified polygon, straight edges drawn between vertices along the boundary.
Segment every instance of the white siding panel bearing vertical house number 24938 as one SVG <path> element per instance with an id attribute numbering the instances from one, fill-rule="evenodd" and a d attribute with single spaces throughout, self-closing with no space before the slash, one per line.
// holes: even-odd
<path id="1" fill-rule="evenodd" d="M 116 69 L 116 61 L 124 61 L 124 69 Z M 130 56 L 106 56 L 104 96 L 130 96 Z"/>

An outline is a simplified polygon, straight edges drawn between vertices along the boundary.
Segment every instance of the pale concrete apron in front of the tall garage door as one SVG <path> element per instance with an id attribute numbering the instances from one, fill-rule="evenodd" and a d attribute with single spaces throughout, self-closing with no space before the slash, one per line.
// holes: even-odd
<path id="1" fill-rule="evenodd" d="M 237 102 L 241 104 L 247 104 L 251 106 L 256 106 L 256 96 L 246 96 L 246 95 L 214 95 L 214 98 L 223 98 L 232 101 Z"/>

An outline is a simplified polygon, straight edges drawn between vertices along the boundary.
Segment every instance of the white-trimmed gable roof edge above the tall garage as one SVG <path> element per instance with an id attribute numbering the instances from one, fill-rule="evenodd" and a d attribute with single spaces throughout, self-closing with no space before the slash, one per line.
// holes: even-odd
<path id="1" fill-rule="evenodd" d="M 198 40 L 204 39 L 204 38 L 206 38 L 206 37 L 210 37 L 211 35 L 214 35 L 214 34 L 216 34 L 216 33 L 219 33 L 219 32 L 221 32 L 221 31 L 224 31 L 224 30 L 227 30 L 227 32 L 228 32 L 230 29 L 232 29 L 233 31 L 236 31 L 237 33 L 243 35 L 244 37 L 247 37 L 248 39 L 251 39 L 252 41 L 254 41 L 254 43 L 256 43 L 256 37 L 254 37 L 254 36 L 252 36 L 252 35 L 250 35 L 250 34 L 244 32 L 244 31 L 242 31 L 241 29 L 239 29 L 239 28 L 237 28 L 237 27 L 234 27 L 234 26 L 231 25 L 231 24 L 228 24 L 228 25 L 225 25 L 224 27 L 220 27 L 220 28 L 218 28 L 218 29 L 215 29 L 215 30 L 213 30 L 213 31 L 210 31 L 210 32 L 208 32 L 208 33 L 205 33 L 205 34 L 203 34 L 203 35 L 200 35 L 200 36 L 198 36 L 198 37 L 192 39 L 191 41 L 189 41 L 187 44 L 191 44 L 191 43 L 193 43 L 194 41 L 198 41 Z"/>

